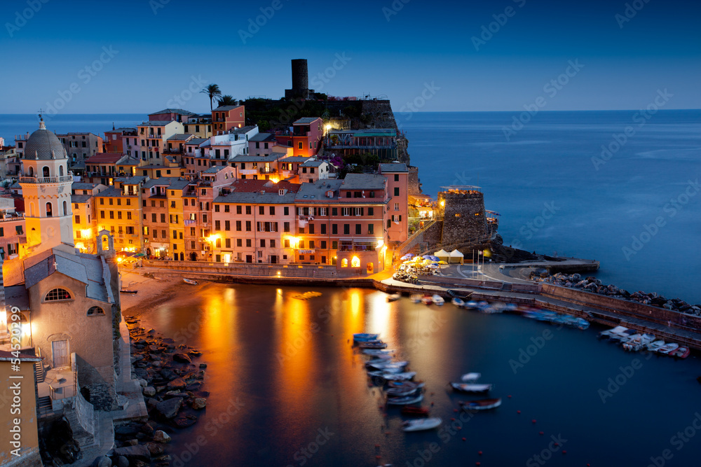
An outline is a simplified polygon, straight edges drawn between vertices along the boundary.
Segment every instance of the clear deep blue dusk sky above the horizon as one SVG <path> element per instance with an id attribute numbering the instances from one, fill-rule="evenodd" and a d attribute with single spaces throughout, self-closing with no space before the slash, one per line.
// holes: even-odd
<path id="1" fill-rule="evenodd" d="M 395 112 L 701 109 L 699 2 L 3 0 L 0 113 L 209 111 L 310 88 Z M 194 92 L 193 92 L 194 91 Z"/>

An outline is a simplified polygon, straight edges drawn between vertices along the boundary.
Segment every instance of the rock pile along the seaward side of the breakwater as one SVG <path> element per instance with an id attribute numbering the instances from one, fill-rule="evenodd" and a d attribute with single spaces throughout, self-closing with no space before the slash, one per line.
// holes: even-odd
<path id="1" fill-rule="evenodd" d="M 622 300 L 628 300 L 629 302 L 641 303 L 642 305 L 651 305 L 653 307 L 669 309 L 672 312 L 701 316 L 701 304 L 690 305 L 679 298 L 667 299 L 655 292 L 645 293 L 637 291 L 630 293 L 614 285 L 607 286 L 602 284 L 596 277 L 586 277 L 583 279 L 580 274 L 564 274 L 562 272 L 558 272 L 557 274 L 553 274 L 551 276 L 547 274 L 547 272 L 542 272 L 540 274 L 537 272 L 531 272 L 529 279 L 533 281 L 547 282 L 548 284 L 554 284 L 556 286 L 579 288 L 583 291 L 598 293 L 599 295 L 607 295 L 611 298 L 620 298 Z"/>

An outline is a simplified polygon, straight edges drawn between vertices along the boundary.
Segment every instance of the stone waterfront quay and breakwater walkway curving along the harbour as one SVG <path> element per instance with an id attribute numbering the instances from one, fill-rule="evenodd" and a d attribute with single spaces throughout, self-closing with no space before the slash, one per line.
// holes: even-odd
<path id="1" fill-rule="evenodd" d="M 566 267 L 576 267 L 576 258 L 569 258 Z M 580 260 L 592 265 L 590 260 Z M 601 297 L 594 293 L 576 291 L 569 288 L 547 285 L 522 279 L 529 271 L 559 267 L 563 261 L 539 261 L 533 264 L 486 265 L 446 265 L 440 275 L 421 276 L 416 284 L 392 279 L 392 270 L 385 270 L 367 277 L 340 275 L 335 267 L 297 267 L 290 265 L 247 265 L 231 270 L 224 265 L 211 263 L 177 262 L 177 267 L 165 261 L 149 261 L 146 267 L 122 267 L 123 288 L 147 289 L 156 293 L 149 282 L 161 281 L 173 286 L 182 277 L 217 282 L 238 282 L 247 284 L 342 286 L 377 288 L 388 293 L 437 293 L 447 296 L 450 289 L 469 294 L 474 300 L 493 300 L 531 305 L 555 312 L 580 316 L 587 321 L 604 326 L 626 326 L 641 332 L 653 333 L 663 340 L 672 340 L 701 350 L 701 333 L 694 326 L 688 326 L 687 315 L 677 314 L 679 320 L 669 320 L 669 312 L 656 307 L 633 306 L 626 300 Z M 598 263 L 597 263 L 598 265 Z M 155 277 L 147 279 L 144 274 Z M 145 281 L 145 282 L 144 282 Z M 140 285 L 140 286 L 139 286 Z M 163 289 L 164 287 L 160 287 Z M 554 292 L 553 292 L 554 291 Z M 568 295 L 578 294 L 576 297 Z M 124 295 L 123 295 L 124 296 Z M 604 299 L 606 299 L 604 301 Z M 125 301 L 141 301 L 143 297 L 127 298 Z M 125 303 L 128 307 L 128 303 Z M 695 318 L 690 316 L 690 318 Z M 692 322 L 693 324 L 693 322 Z M 670 326 L 671 325 L 671 326 Z"/>

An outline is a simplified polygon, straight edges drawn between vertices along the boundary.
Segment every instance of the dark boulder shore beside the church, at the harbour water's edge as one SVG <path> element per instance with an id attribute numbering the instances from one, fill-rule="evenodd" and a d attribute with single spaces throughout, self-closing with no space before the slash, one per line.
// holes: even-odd
<path id="1" fill-rule="evenodd" d="M 170 466 L 166 446 L 174 430 L 196 424 L 197 412 L 207 406 L 209 393 L 202 390 L 206 363 L 193 363 L 201 352 L 153 329 L 139 326 L 135 316 L 125 316 L 131 344 L 132 374 L 139 379 L 148 419 L 114 428 L 114 449 L 95 459 L 93 466 Z"/>

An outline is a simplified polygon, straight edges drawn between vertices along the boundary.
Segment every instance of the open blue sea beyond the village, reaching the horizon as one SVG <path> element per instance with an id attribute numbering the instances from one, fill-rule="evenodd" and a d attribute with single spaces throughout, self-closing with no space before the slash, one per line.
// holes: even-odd
<path id="1" fill-rule="evenodd" d="M 104 135 L 145 118 L 57 114 L 46 125 Z M 599 260 L 594 275 L 605 284 L 701 303 L 700 110 L 395 118 L 423 192 L 479 186 L 486 208 L 500 214 L 504 244 Z M 36 115 L 0 115 L 0 137 L 13 144 L 37 125 Z"/>

